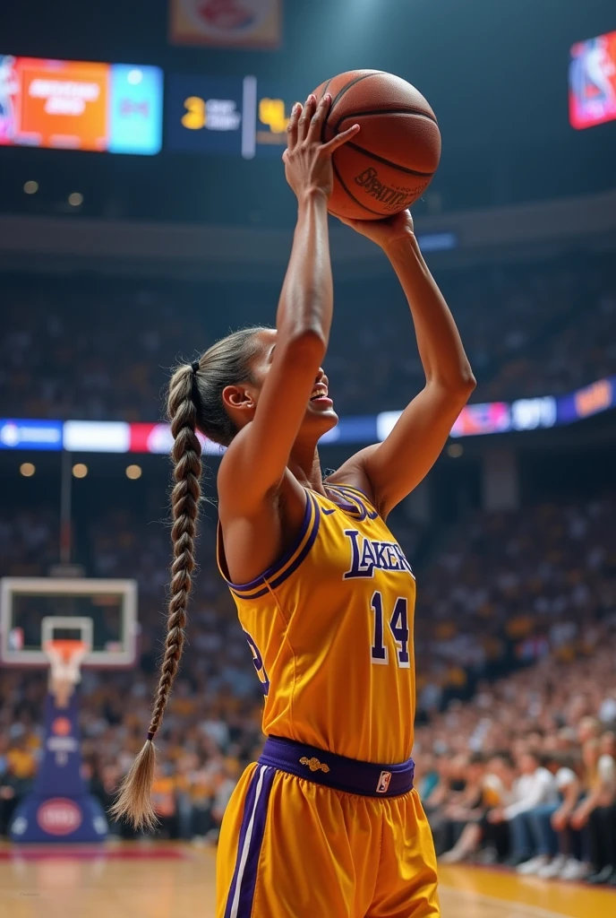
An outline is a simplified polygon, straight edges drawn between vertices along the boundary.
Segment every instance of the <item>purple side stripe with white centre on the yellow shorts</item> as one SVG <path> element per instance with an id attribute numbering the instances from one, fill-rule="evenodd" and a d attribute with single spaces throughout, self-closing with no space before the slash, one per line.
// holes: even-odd
<path id="1" fill-rule="evenodd" d="M 263 844 L 268 800 L 276 769 L 259 765 L 248 785 L 237 842 L 236 868 L 226 900 L 225 918 L 250 918 Z"/>

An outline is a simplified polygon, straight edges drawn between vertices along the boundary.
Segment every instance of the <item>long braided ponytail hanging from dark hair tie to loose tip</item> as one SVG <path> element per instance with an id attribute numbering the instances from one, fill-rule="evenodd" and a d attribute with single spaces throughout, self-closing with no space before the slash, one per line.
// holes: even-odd
<path id="1" fill-rule="evenodd" d="M 165 654 L 160 666 L 148 739 L 126 775 L 110 811 L 116 819 L 126 818 L 136 828 L 152 829 L 157 822 L 150 800 L 156 766 L 152 740 L 159 730 L 178 672 L 184 646 L 188 597 L 192 588 L 194 537 L 201 497 L 201 443 L 196 435 L 198 371 L 198 363 L 187 364 L 176 370 L 170 380 L 167 409 L 173 434 L 171 455 L 175 485 L 171 492 L 173 560 Z"/>

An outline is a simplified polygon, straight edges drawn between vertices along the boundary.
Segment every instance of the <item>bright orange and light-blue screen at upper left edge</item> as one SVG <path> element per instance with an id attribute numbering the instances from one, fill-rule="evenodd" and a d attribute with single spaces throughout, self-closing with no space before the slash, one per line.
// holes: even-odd
<path id="1" fill-rule="evenodd" d="M 158 153 L 162 71 L 0 55 L 0 145 Z"/>

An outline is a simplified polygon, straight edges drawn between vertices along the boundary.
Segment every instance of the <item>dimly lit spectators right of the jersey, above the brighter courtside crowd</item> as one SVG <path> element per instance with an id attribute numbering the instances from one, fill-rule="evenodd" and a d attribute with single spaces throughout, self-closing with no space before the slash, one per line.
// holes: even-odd
<path id="1" fill-rule="evenodd" d="M 572 659 L 581 623 L 616 610 L 615 512 L 605 496 L 457 522 L 418 578 L 420 711 L 505 666 Z"/>

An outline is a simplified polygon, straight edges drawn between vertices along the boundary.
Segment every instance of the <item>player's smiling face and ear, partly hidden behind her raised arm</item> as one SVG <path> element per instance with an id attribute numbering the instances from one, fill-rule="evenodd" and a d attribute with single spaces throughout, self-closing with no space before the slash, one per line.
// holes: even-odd
<path id="1" fill-rule="evenodd" d="M 223 390 L 225 410 L 238 428 L 244 427 L 255 416 L 276 347 L 275 329 L 259 330 L 255 335 L 259 346 L 250 363 L 251 379 L 235 386 L 225 386 Z M 283 397 L 282 392 L 281 398 Z M 334 402 L 329 397 L 327 376 L 323 368 L 319 367 L 314 376 L 313 391 L 306 403 L 306 413 L 298 437 L 314 437 L 318 440 L 324 433 L 336 427 L 337 422 Z"/>

